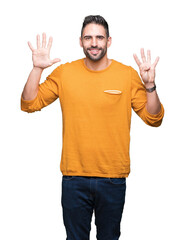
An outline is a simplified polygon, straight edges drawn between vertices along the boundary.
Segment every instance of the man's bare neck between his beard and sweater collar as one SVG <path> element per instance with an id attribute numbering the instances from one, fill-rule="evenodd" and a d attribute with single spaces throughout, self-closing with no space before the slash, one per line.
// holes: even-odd
<path id="1" fill-rule="evenodd" d="M 107 68 L 111 64 L 112 60 L 108 59 L 107 57 L 102 58 L 98 61 L 92 61 L 89 58 L 85 58 L 84 62 L 85 62 L 85 65 L 89 69 L 94 70 L 94 71 L 100 71 L 100 70 Z"/>

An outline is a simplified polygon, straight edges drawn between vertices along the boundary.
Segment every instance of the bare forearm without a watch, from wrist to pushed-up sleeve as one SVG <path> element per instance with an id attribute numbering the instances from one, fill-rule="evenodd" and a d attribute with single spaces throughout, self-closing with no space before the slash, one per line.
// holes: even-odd
<path id="1" fill-rule="evenodd" d="M 33 67 L 22 92 L 24 100 L 32 100 L 37 96 L 42 71 L 41 68 Z"/>

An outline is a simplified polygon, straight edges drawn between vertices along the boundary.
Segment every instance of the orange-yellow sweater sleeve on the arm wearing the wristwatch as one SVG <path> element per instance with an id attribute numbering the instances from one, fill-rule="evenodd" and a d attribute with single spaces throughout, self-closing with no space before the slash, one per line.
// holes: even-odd
<path id="1" fill-rule="evenodd" d="M 164 107 L 157 114 L 150 114 L 146 109 L 147 95 L 138 73 L 131 67 L 131 104 L 137 115 L 149 126 L 159 127 L 164 117 Z"/>

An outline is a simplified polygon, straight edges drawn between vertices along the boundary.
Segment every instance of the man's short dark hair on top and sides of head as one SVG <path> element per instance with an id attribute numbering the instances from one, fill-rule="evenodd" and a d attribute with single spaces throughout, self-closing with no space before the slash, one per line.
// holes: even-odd
<path id="1" fill-rule="evenodd" d="M 89 15 L 89 16 L 84 18 L 84 22 L 83 22 L 82 30 L 81 30 L 81 37 L 82 37 L 83 30 L 84 30 L 85 26 L 87 24 L 89 24 L 89 23 L 95 23 L 95 24 L 102 25 L 105 28 L 107 38 L 109 37 L 109 26 L 108 26 L 108 23 L 100 15 Z"/>

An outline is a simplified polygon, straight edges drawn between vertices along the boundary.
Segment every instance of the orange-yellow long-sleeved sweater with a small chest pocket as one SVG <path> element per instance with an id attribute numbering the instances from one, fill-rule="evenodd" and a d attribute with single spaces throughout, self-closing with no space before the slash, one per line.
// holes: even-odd
<path id="1" fill-rule="evenodd" d="M 107 91 L 116 90 L 116 91 Z M 146 90 L 138 73 L 112 60 L 104 70 L 87 68 L 84 58 L 58 66 L 21 110 L 39 111 L 59 97 L 63 115 L 60 170 L 69 176 L 128 177 L 131 110 L 158 127 L 164 108 L 147 112 Z"/>

